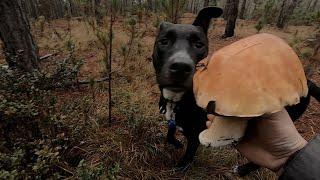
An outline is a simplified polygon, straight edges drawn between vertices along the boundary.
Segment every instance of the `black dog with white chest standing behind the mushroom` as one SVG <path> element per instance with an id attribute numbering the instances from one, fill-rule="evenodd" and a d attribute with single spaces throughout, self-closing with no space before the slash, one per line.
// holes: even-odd
<path id="1" fill-rule="evenodd" d="M 218 7 L 202 9 L 192 25 L 163 22 L 160 25 L 153 51 L 153 65 L 161 91 L 160 112 L 168 120 L 167 140 L 176 147 L 176 129 L 181 129 L 187 138 L 185 155 L 178 163 L 182 170 L 192 162 L 200 144 L 198 136 L 206 128 L 207 112 L 196 105 L 192 79 L 197 63 L 208 55 L 207 32 L 212 18 L 223 13 Z M 310 95 L 320 100 L 320 89 L 308 82 L 309 95 L 301 103 L 287 110 L 297 119 L 307 108 Z"/>

